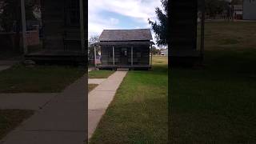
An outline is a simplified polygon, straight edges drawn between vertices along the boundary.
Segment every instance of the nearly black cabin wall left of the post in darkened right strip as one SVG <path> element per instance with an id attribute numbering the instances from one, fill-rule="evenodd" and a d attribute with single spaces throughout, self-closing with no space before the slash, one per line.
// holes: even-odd
<path id="1" fill-rule="evenodd" d="M 170 2 L 171 50 L 196 50 L 198 0 Z"/>

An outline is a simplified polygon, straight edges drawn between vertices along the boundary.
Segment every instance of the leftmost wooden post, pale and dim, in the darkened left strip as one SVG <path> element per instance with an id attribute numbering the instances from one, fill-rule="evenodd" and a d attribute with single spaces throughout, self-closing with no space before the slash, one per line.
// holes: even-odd
<path id="1" fill-rule="evenodd" d="M 22 42 L 23 42 L 23 52 L 27 54 L 26 46 L 26 10 L 25 10 L 25 0 L 21 0 L 21 10 L 22 10 Z"/>

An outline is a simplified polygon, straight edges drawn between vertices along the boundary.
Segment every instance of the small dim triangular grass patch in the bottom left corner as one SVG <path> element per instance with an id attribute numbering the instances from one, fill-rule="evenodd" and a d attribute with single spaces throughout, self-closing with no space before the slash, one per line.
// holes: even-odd
<path id="1" fill-rule="evenodd" d="M 32 110 L 0 110 L 0 139 L 32 114 Z"/>

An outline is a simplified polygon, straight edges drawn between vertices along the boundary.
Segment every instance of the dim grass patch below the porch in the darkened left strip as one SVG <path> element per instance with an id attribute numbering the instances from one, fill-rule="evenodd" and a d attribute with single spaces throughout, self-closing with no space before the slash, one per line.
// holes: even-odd
<path id="1" fill-rule="evenodd" d="M 60 92 L 85 70 L 71 66 L 13 66 L 0 72 L 0 93 Z"/>

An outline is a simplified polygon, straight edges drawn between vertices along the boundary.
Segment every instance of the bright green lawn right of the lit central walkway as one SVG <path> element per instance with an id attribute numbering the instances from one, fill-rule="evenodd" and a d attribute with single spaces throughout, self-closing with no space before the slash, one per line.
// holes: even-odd
<path id="1" fill-rule="evenodd" d="M 166 143 L 168 70 L 154 57 L 153 70 L 129 71 L 90 143 Z"/>

